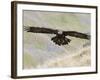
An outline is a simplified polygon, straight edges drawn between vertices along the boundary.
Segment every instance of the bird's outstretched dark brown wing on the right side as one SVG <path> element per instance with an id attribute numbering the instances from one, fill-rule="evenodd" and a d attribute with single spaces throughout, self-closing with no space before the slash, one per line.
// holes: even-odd
<path id="1" fill-rule="evenodd" d="M 63 31 L 63 35 L 82 38 L 82 39 L 90 39 L 90 35 L 76 31 Z"/>

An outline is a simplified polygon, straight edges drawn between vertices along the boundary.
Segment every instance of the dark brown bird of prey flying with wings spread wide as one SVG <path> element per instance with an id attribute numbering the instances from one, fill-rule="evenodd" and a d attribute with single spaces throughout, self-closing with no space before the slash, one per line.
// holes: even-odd
<path id="1" fill-rule="evenodd" d="M 24 26 L 24 30 L 31 33 L 56 34 L 56 36 L 52 37 L 51 40 L 59 46 L 70 43 L 71 39 L 67 38 L 67 36 L 90 40 L 90 35 L 87 35 L 85 33 L 80 33 L 77 31 L 61 31 L 57 29 L 49 29 L 49 28 L 33 27 L 33 26 L 28 26 L 28 27 Z"/>

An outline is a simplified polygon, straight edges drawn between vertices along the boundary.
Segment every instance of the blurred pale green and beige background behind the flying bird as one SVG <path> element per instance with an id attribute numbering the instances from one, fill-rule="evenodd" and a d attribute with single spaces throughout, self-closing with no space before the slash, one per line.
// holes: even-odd
<path id="1" fill-rule="evenodd" d="M 89 13 L 23 11 L 23 26 L 35 26 L 90 34 Z M 23 68 L 79 67 L 91 65 L 90 41 L 68 36 L 68 45 L 51 41 L 53 34 L 24 31 Z"/>

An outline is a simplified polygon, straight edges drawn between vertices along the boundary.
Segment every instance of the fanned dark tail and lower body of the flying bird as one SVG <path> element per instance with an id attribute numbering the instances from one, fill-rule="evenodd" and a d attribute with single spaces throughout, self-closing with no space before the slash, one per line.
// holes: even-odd
<path id="1" fill-rule="evenodd" d="M 66 45 L 68 44 L 71 40 L 66 38 L 63 34 L 57 34 L 55 37 L 51 39 L 55 44 L 60 45 Z"/>

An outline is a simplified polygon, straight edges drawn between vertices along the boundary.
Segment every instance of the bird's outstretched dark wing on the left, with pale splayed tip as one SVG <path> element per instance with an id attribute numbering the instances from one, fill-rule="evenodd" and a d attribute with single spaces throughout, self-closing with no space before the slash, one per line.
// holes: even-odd
<path id="1" fill-rule="evenodd" d="M 42 28 L 42 27 L 26 27 L 24 26 L 24 30 L 27 32 L 32 33 L 47 33 L 47 34 L 57 34 L 58 30 L 48 29 L 48 28 Z"/>

